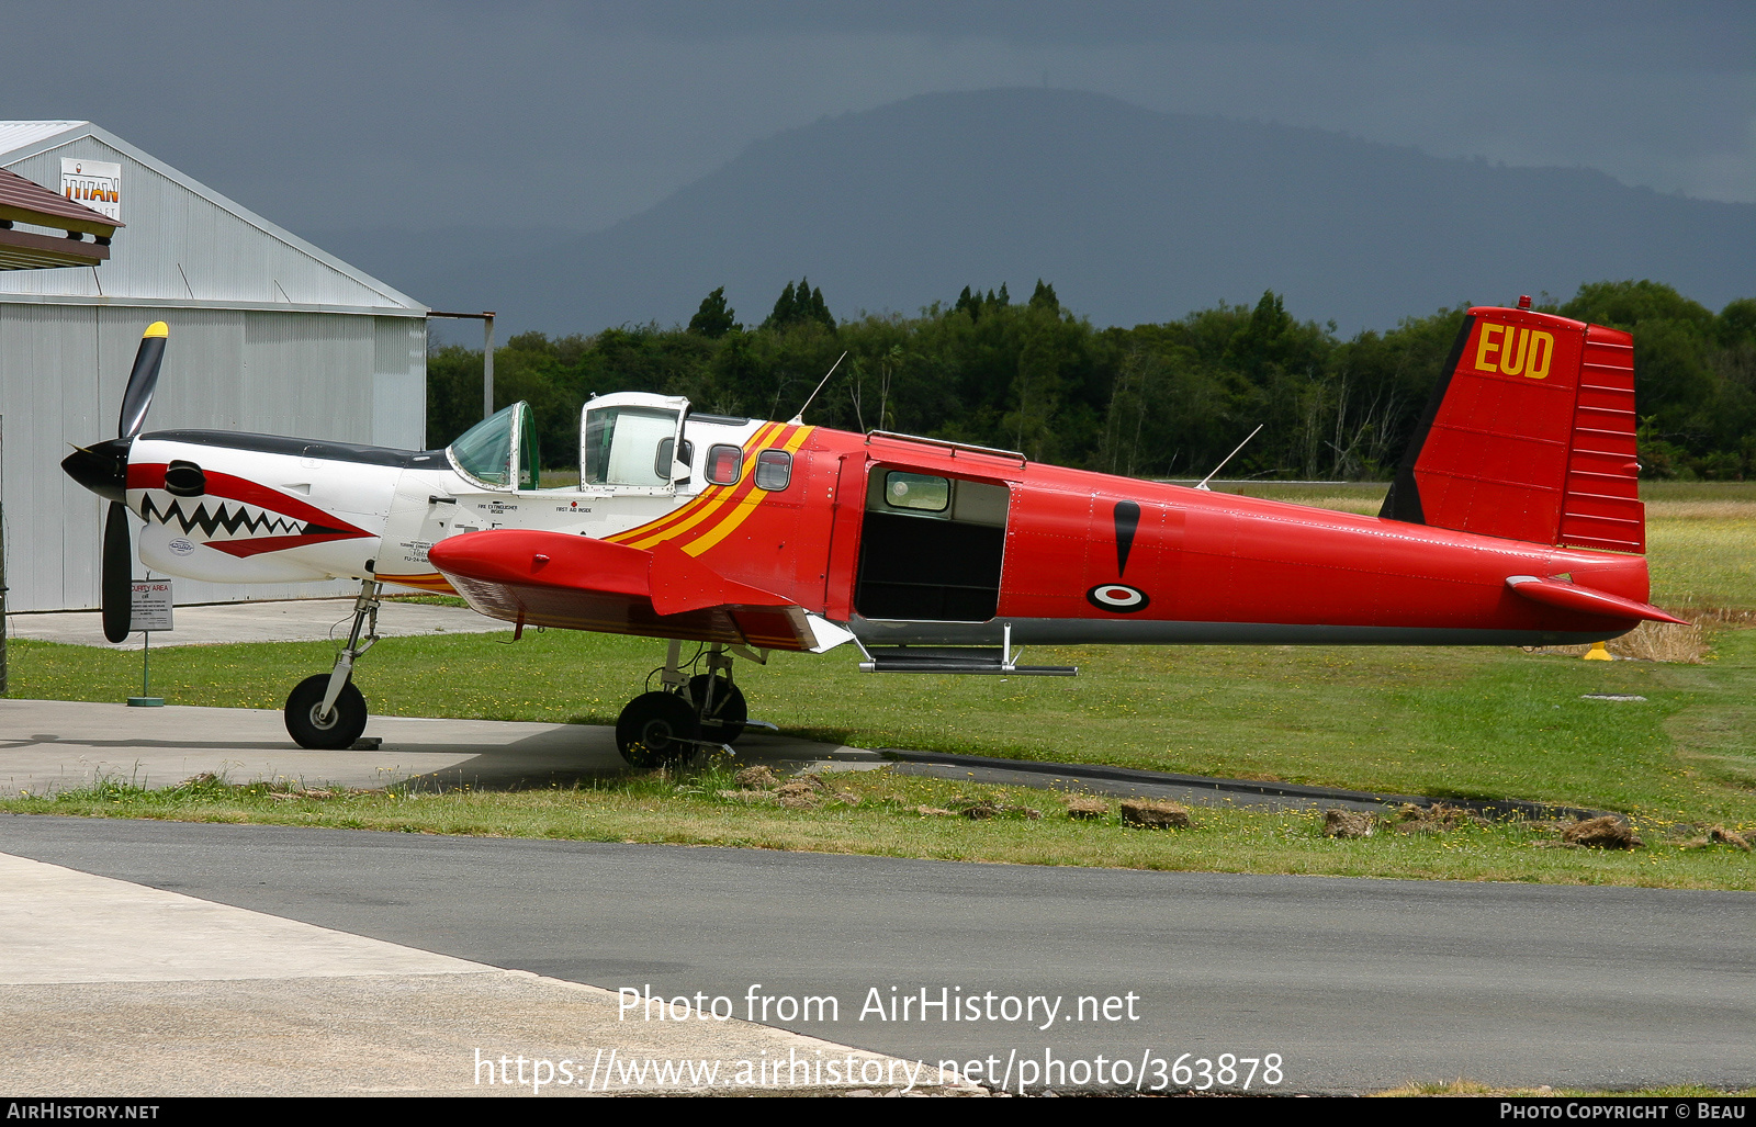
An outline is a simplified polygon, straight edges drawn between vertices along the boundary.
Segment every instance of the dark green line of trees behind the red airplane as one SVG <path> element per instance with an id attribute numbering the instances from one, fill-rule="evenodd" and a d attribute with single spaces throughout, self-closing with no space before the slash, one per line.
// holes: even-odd
<path id="1" fill-rule="evenodd" d="M 1659 283 L 1605 281 L 1538 309 L 1635 334 L 1645 476 L 1756 476 L 1756 300 L 1716 314 Z M 572 469 L 592 393 L 662 391 L 697 411 L 785 420 L 845 351 L 806 421 L 1136 477 L 1201 477 L 1261 423 L 1226 477 L 1375 479 L 1401 456 L 1463 314 L 1343 341 L 1270 291 L 1254 307 L 1092 328 L 1038 281 L 1027 300 L 1004 284 L 966 288 L 917 318 L 838 321 L 801 279 L 753 327 L 715 290 L 687 328 L 520 334 L 493 353 L 493 390 L 495 407 L 529 400 L 544 462 Z M 444 446 L 481 418 L 481 351 L 432 349 L 427 386 L 427 441 Z"/>

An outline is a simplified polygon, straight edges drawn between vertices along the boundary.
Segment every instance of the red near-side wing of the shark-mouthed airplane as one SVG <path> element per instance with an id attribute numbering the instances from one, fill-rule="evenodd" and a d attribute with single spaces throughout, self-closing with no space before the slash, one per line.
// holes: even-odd
<path id="1" fill-rule="evenodd" d="M 481 614 L 534 627 L 811 650 L 804 609 L 727 579 L 673 544 L 495 528 L 432 546 L 432 565 Z"/>

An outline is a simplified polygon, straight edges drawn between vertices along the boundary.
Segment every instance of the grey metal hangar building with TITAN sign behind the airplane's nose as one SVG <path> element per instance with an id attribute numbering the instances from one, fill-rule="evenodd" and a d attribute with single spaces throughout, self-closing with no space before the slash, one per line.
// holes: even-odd
<path id="1" fill-rule="evenodd" d="M 100 246 L 102 237 L 42 226 L 40 214 L 37 225 L 7 219 L 0 197 L 9 613 L 98 606 L 102 502 L 60 462 L 68 442 L 116 435 L 153 321 L 170 325 L 170 342 L 148 430 L 425 446 L 428 309 L 414 298 L 90 121 L 0 121 L 0 169 L 119 226 Z M 67 265 L 84 262 L 95 265 Z M 179 604 L 353 588 L 176 583 Z"/>

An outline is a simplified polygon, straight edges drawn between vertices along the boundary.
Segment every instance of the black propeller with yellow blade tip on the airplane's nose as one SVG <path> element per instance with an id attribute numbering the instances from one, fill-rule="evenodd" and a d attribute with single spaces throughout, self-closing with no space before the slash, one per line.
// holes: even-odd
<path id="1" fill-rule="evenodd" d="M 61 460 L 67 476 L 107 499 L 104 516 L 104 556 L 100 592 L 104 599 L 104 637 L 119 642 L 128 637 L 130 588 L 133 585 L 133 546 L 128 539 L 128 448 L 146 425 L 146 411 L 153 406 L 158 386 L 158 365 L 165 358 L 165 339 L 170 328 L 153 321 L 140 335 L 140 351 L 128 372 L 128 390 L 121 397 L 121 416 L 116 420 L 116 437 L 91 448 L 76 446 Z"/>

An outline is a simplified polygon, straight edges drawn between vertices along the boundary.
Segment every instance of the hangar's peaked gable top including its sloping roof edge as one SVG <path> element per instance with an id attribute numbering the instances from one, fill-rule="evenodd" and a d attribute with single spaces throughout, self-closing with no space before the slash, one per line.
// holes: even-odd
<path id="1" fill-rule="evenodd" d="M 427 305 L 90 121 L 0 121 L 0 169 L 58 193 L 61 160 L 121 165 L 125 237 L 81 270 L 0 272 L 0 302 L 425 316 Z"/>

